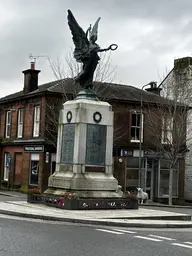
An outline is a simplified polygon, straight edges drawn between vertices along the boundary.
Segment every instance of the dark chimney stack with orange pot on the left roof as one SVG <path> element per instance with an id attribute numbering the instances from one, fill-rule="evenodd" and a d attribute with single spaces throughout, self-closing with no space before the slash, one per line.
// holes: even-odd
<path id="1" fill-rule="evenodd" d="M 24 93 L 29 93 L 38 89 L 38 74 L 40 70 L 35 70 L 35 62 L 31 62 L 30 69 L 22 71 L 24 74 Z"/>

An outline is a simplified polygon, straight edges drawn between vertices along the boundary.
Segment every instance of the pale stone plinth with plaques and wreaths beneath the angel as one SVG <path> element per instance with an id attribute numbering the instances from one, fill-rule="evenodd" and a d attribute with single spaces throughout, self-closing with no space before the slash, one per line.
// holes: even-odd
<path id="1" fill-rule="evenodd" d="M 56 172 L 50 176 L 45 193 L 73 191 L 79 197 L 121 197 L 112 171 L 111 105 L 90 99 L 67 101 L 59 119 Z"/>

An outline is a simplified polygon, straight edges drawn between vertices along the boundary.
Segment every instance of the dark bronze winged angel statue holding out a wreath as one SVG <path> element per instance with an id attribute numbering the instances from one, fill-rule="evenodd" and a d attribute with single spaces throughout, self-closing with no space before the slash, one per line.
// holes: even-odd
<path id="1" fill-rule="evenodd" d="M 82 88 L 91 89 L 94 72 L 100 60 L 98 53 L 108 50 L 114 51 L 118 46 L 112 44 L 106 49 L 100 49 L 99 45 L 96 44 L 100 18 L 97 19 L 93 27 L 90 25 L 86 32 L 79 26 L 70 10 L 68 10 L 67 18 L 75 45 L 74 58 L 77 62 L 83 64 L 82 71 L 75 78 L 75 81 Z"/>

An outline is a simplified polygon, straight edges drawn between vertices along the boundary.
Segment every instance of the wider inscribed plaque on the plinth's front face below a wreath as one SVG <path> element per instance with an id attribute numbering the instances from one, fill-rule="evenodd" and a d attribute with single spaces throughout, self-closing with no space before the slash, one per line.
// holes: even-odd
<path id="1" fill-rule="evenodd" d="M 86 164 L 105 165 L 107 126 L 87 124 Z"/>

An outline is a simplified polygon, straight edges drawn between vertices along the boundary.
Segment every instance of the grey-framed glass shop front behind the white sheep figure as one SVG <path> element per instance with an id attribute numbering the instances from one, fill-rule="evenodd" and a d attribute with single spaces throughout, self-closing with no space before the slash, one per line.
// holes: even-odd
<path id="1" fill-rule="evenodd" d="M 133 150 L 132 156 L 126 156 L 125 190 L 131 191 L 141 187 L 148 193 L 149 200 L 167 202 L 170 180 L 169 161 L 157 157 L 156 154 L 147 156 L 142 152 L 141 155 L 140 158 L 138 150 Z M 177 163 L 173 169 L 172 179 L 172 197 L 175 199 L 179 196 L 180 171 L 182 170 L 179 170 L 179 163 Z"/>

